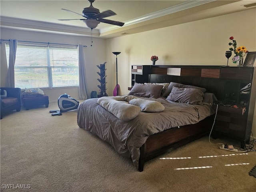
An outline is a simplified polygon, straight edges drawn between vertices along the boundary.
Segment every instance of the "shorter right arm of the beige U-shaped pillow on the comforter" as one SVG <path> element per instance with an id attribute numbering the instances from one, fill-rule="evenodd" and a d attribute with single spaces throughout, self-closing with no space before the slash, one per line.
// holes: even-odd
<path id="1" fill-rule="evenodd" d="M 164 106 L 157 101 L 132 99 L 129 101 L 129 104 L 139 106 L 143 112 L 161 112 L 164 110 Z"/>

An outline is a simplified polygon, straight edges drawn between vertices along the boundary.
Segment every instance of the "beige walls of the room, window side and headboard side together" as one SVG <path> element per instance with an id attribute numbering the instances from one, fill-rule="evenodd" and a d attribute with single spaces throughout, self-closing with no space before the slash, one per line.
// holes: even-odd
<path id="1" fill-rule="evenodd" d="M 255 9 L 109 40 L 94 38 L 92 47 L 88 37 L 1 29 L 3 39 L 87 45 L 84 48 L 84 57 L 88 92 L 90 94 L 92 90 L 98 91 L 96 65 L 107 62 L 106 88 L 110 96 L 116 84 L 116 57 L 112 52 L 122 52 L 118 55 L 118 84 L 120 94 L 128 94 L 131 65 L 150 65 L 152 55 L 158 56 L 158 65 L 226 65 L 224 53 L 230 48 L 230 36 L 234 36 L 238 46 L 244 45 L 249 51 L 256 51 Z M 232 62 L 229 64 L 235 66 Z M 1 45 L 0 70 L 1 86 L 4 86 L 7 73 L 4 44 Z M 56 101 L 63 93 L 78 98 L 78 88 L 51 89 L 44 92 L 50 96 L 50 101 Z M 256 136 L 256 112 L 252 130 Z"/>

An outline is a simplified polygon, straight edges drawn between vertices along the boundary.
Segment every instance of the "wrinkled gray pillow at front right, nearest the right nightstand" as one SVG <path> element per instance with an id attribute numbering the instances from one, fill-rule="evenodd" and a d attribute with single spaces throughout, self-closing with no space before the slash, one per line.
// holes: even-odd
<path id="1" fill-rule="evenodd" d="M 170 95 L 166 100 L 179 103 L 188 103 L 188 104 L 202 104 L 204 99 L 204 93 L 199 89 L 194 88 L 178 88 L 173 87 Z"/>

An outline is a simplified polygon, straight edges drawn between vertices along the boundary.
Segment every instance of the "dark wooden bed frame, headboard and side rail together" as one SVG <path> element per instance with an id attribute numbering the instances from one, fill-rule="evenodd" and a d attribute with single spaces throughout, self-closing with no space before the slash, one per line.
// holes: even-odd
<path id="1" fill-rule="evenodd" d="M 225 93 L 222 91 L 225 88 L 225 81 L 220 80 L 221 66 L 155 65 L 146 66 L 146 68 L 147 70 L 143 70 L 143 74 L 135 75 L 135 82 L 177 82 L 206 88 L 207 92 L 214 93 L 217 98 L 225 96 Z M 174 74 L 172 74 L 170 69 L 174 68 Z M 146 74 L 144 71 L 146 71 Z M 179 74 L 177 74 L 177 71 Z M 175 127 L 149 136 L 146 143 L 140 147 L 138 170 L 140 172 L 143 171 L 146 161 L 210 134 L 214 116 L 212 115 L 197 124 Z"/>

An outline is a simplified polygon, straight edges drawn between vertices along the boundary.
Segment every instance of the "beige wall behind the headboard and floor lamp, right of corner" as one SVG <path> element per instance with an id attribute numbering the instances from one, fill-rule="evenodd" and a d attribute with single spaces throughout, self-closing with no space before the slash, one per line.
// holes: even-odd
<path id="1" fill-rule="evenodd" d="M 122 52 L 118 55 L 118 84 L 120 93 L 128 94 L 131 65 L 150 65 L 152 55 L 158 56 L 157 65 L 226 65 L 230 36 L 238 46 L 256 51 L 256 9 L 109 39 L 106 56 L 114 65 L 111 52 Z M 115 79 L 112 74 L 111 87 Z M 252 131 L 256 137 L 256 112 Z"/>

